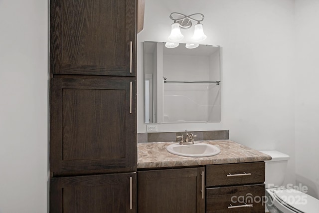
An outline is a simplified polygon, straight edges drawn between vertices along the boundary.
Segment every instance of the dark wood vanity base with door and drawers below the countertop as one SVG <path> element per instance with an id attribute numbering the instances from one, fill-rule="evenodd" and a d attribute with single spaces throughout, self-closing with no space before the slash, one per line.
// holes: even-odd
<path id="1" fill-rule="evenodd" d="M 138 171 L 138 213 L 265 213 L 265 163 Z"/>

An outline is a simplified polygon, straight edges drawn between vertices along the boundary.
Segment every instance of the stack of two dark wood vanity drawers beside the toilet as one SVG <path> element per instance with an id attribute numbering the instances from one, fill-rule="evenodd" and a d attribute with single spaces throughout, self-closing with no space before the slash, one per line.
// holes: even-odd
<path id="1" fill-rule="evenodd" d="M 265 213 L 265 163 L 206 166 L 206 213 Z"/>

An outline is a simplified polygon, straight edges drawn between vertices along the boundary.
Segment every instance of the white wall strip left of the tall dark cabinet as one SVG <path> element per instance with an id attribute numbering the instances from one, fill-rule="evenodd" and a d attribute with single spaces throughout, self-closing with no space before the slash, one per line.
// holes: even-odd
<path id="1" fill-rule="evenodd" d="M 0 0 L 0 28 L 0 213 L 45 213 L 48 2 Z"/>

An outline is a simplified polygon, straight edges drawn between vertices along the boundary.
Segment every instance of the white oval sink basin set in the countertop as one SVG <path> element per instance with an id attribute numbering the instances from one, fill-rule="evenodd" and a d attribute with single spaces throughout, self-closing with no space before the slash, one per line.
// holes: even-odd
<path id="1" fill-rule="evenodd" d="M 191 145 L 171 144 L 166 147 L 167 152 L 186 157 L 207 157 L 220 153 L 220 149 L 211 144 L 195 143 Z"/>

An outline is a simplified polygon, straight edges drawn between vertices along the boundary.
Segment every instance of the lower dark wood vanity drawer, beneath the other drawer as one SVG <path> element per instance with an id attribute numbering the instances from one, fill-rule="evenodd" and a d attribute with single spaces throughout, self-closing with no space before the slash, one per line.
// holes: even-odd
<path id="1" fill-rule="evenodd" d="M 265 213 L 265 185 L 206 189 L 206 213 Z"/>

